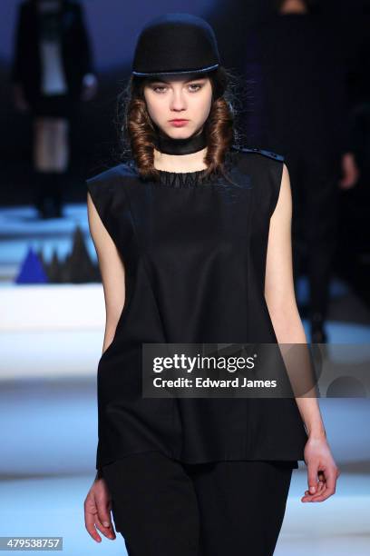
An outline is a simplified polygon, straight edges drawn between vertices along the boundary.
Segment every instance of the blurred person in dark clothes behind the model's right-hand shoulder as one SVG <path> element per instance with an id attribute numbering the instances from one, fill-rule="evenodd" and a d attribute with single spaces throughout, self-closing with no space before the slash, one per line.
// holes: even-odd
<path id="1" fill-rule="evenodd" d="M 254 101 L 248 129 L 255 144 L 287 160 L 295 287 L 307 262 L 311 342 L 325 343 L 339 191 L 358 178 L 347 138 L 346 56 L 314 0 L 277 0 L 275 7 L 248 37 L 245 73 Z"/>

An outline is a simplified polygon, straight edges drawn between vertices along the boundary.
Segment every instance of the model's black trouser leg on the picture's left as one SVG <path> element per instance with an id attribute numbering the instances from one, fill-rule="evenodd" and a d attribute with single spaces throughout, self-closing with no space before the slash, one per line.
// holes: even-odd
<path id="1" fill-rule="evenodd" d="M 129 556 L 199 556 L 198 502 L 180 462 L 144 452 L 105 465 L 102 473 Z"/>

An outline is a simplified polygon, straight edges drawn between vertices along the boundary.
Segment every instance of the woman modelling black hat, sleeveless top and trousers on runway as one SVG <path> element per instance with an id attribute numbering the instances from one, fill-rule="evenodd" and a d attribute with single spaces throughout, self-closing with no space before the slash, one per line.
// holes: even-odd
<path id="1" fill-rule="evenodd" d="M 302 501 L 336 490 L 316 397 L 142 395 L 143 343 L 307 343 L 287 166 L 236 144 L 228 75 L 203 19 L 151 20 L 122 126 L 131 158 L 87 180 L 106 327 L 84 516 L 130 556 L 267 556 L 298 461 Z"/>

